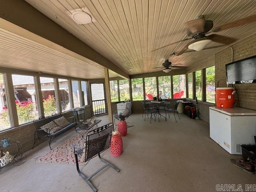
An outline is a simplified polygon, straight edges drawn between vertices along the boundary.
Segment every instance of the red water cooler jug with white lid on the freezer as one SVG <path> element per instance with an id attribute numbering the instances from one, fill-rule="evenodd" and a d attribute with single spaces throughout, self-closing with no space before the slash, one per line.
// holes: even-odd
<path id="1" fill-rule="evenodd" d="M 216 106 L 218 108 L 233 108 L 235 90 L 232 87 L 216 88 Z"/>

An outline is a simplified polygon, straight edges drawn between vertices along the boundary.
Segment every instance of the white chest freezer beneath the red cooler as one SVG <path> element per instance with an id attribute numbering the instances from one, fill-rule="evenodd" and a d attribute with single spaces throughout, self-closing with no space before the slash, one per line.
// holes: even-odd
<path id="1" fill-rule="evenodd" d="M 241 144 L 255 144 L 256 111 L 210 107 L 210 138 L 230 154 L 242 154 Z"/>

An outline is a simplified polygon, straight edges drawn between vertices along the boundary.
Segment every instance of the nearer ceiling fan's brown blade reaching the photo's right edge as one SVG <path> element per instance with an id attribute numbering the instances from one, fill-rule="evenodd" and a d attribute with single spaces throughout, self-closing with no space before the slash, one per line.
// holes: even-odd
<path id="1" fill-rule="evenodd" d="M 236 21 L 232 21 L 232 22 L 229 22 L 229 23 L 217 26 L 217 27 L 214 27 L 212 29 L 212 32 L 219 32 L 219 31 L 238 27 L 238 26 L 245 25 L 245 24 L 252 23 L 252 22 L 256 22 L 256 14 L 242 18 L 242 19 L 238 19 Z"/>

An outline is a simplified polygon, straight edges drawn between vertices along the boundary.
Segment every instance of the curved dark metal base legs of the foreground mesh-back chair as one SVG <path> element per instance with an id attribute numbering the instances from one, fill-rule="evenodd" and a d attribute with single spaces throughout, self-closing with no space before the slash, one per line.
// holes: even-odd
<path id="1" fill-rule="evenodd" d="M 74 149 L 75 150 L 75 149 Z M 112 167 L 114 170 L 116 170 L 117 172 L 120 172 L 120 169 L 118 169 L 116 166 L 114 166 L 113 164 L 111 164 L 110 162 L 108 162 L 107 160 L 103 159 L 100 154 L 98 154 L 98 157 L 100 158 L 100 160 L 102 162 L 105 163 L 104 166 L 102 166 L 100 169 L 98 169 L 96 172 L 94 172 L 93 174 L 91 174 L 90 176 L 86 177 L 84 174 L 82 174 L 82 172 L 79 169 L 79 165 L 78 165 L 78 155 L 75 153 L 75 158 L 76 158 L 76 170 L 78 172 L 78 174 L 83 178 L 83 180 L 86 181 L 86 183 L 90 186 L 90 188 L 94 191 L 97 192 L 98 190 L 93 186 L 93 184 L 90 182 L 90 178 L 92 178 L 94 175 L 96 175 L 98 172 L 100 172 L 102 169 L 104 169 L 106 166 L 110 166 Z"/>

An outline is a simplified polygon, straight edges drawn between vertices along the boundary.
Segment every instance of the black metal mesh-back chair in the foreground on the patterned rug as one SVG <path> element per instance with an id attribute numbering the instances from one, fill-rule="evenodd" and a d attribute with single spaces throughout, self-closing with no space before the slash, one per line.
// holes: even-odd
<path id="1" fill-rule="evenodd" d="M 98 191 L 90 182 L 90 178 L 103 170 L 106 166 L 110 166 L 114 168 L 117 172 L 120 172 L 120 169 L 116 168 L 113 164 L 103 159 L 100 156 L 100 153 L 104 152 L 110 147 L 111 136 L 113 131 L 113 123 L 106 124 L 102 127 L 91 130 L 86 135 L 86 141 L 84 142 L 84 147 L 79 147 L 77 144 L 73 144 L 74 146 L 74 155 L 76 158 L 76 169 L 78 174 L 86 181 L 86 183 L 92 188 L 94 192 Z M 92 175 L 86 177 L 79 169 L 78 165 L 78 156 L 81 157 L 80 162 L 87 162 L 90 159 L 97 156 L 100 158 L 102 162 L 105 163 L 100 169 L 94 172 Z"/>

